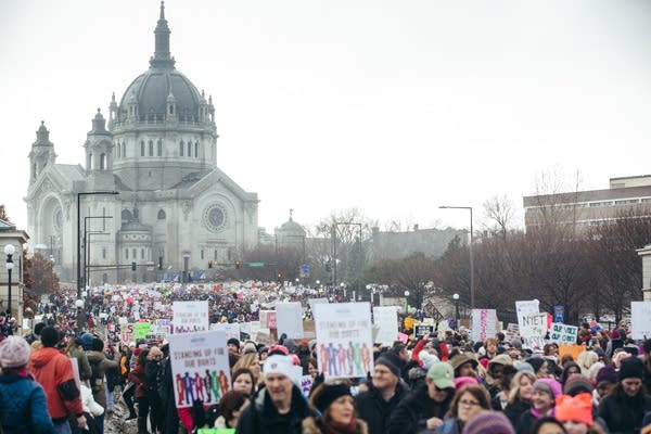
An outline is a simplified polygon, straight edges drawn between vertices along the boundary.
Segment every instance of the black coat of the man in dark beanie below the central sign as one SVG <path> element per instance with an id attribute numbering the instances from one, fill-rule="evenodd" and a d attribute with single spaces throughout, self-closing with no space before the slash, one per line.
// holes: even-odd
<path id="1" fill-rule="evenodd" d="M 367 422 L 369 434 L 384 434 L 387 432 L 391 414 L 400 400 L 407 396 L 408 392 L 407 384 L 399 382 L 394 396 L 388 400 L 384 400 L 382 394 L 371 385 L 368 392 L 360 393 L 355 398 L 357 417 Z"/>

